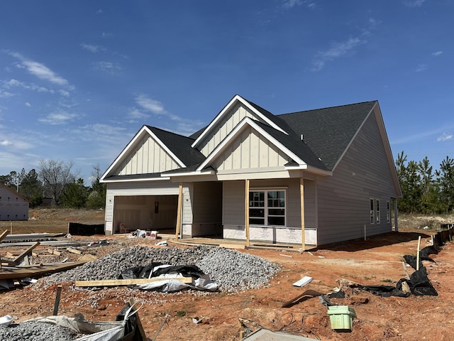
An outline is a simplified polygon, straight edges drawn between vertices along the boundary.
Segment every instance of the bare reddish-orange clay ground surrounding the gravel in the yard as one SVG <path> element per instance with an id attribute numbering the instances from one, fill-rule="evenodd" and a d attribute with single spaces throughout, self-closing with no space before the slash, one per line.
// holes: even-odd
<path id="1" fill-rule="evenodd" d="M 165 313 L 170 310 L 170 317 L 156 340 L 241 340 L 240 332 L 245 328 L 240 327 L 239 318 L 244 319 L 251 330 L 260 327 L 284 330 L 316 340 L 454 340 L 454 293 L 451 287 L 454 244 L 450 242 L 439 254 L 431 255 L 436 263 L 423 261 L 438 296 L 384 298 L 365 291 L 349 290 L 346 298 L 332 298 L 334 304 L 349 305 L 355 310 L 357 318 L 353 320 L 351 332 L 331 329 L 327 308 L 319 298 L 309 298 L 291 308 L 282 308 L 283 303 L 308 289 L 333 292 L 339 278 L 363 285 L 395 286 L 400 278 L 406 276 L 402 256 L 416 255 L 419 236 L 422 249 L 428 245 L 429 234 L 391 232 L 367 241 L 302 254 L 269 249 L 241 250 L 282 266 L 282 271 L 272 278 L 267 288 L 243 293 L 185 291 L 165 294 L 126 287 L 74 291 L 72 283 L 63 283 L 58 313 L 67 316 L 82 313 L 88 320 L 115 320 L 126 301 L 134 298 L 143 303 L 139 315 L 150 338 L 155 336 Z M 127 242 L 138 243 L 138 239 L 128 239 Z M 144 242 L 140 241 L 140 244 Z M 100 247 L 95 253 L 101 256 L 114 249 L 114 245 Z M 4 251 L 0 252 L 3 254 Z M 410 274 L 414 271 L 407 269 Z M 292 286 L 303 276 L 311 276 L 314 281 L 303 288 Z M 56 286 L 36 290 L 33 284 L 1 292 L 0 316 L 13 315 L 16 322 L 20 322 L 52 315 L 55 293 Z M 193 318 L 201 323 L 194 323 Z"/>

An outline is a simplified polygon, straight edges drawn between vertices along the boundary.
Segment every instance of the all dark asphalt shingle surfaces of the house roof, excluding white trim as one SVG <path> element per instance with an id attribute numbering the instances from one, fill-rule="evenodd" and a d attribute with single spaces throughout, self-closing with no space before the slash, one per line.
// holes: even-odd
<path id="1" fill-rule="evenodd" d="M 376 102 L 362 102 L 273 115 L 257 104 L 248 101 L 251 106 L 280 126 L 288 135 L 257 121 L 256 123 L 262 129 L 289 148 L 309 166 L 328 171 L 333 170 Z M 191 146 L 206 127 L 189 137 L 154 126 L 148 126 L 148 128 L 187 166 L 165 173 L 194 171 L 205 160 L 205 156 Z M 304 136 L 304 141 L 301 141 L 301 134 Z"/>

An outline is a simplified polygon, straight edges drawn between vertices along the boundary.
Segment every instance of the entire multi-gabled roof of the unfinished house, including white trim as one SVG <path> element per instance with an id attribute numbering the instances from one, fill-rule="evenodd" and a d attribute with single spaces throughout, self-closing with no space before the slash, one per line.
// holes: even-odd
<path id="1" fill-rule="evenodd" d="M 228 134 L 223 141 L 218 143 L 218 146 L 208 156 L 204 156 L 198 149 L 199 142 L 206 136 L 209 136 L 211 131 L 216 129 L 217 122 L 221 121 L 221 118 L 228 114 L 229 109 L 238 104 L 248 108 L 256 117 L 260 118 L 260 121 L 250 118 L 243 119 L 233 128 L 231 134 Z M 148 131 L 170 155 L 177 159 L 179 166 L 181 166 L 181 168 L 175 170 L 161 172 L 160 176 L 162 177 L 169 176 L 170 174 L 186 173 L 188 175 L 194 175 L 216 173 L 216 170 L 211 168 L 210 162 L 219 155 L 223 148 L 235 139 L 238 133 L 236 129 L 240 129 L 241 125 L 244 126 L 244 124 L 248 124 L 253 129 L 260 131 L 261 134 L 265 135 L 266 139 L 272 141 L 277 148 L 287 154 L 289 158 L 292 158 L 293 161 L 287 163 L 287 169 L 311 168 L 312 171 L 329 174 L 341 161 L 345 151 L 347 151 L 362 127 L 362 124 L 365 123 L 367 117 L 373 112 L 375 106 L 378 107 L 378 102 L 370 101 L 274 115 L 236 94 L 209 125 L 196 131 L 189 137 L 148 125 L 143 126 L 139 133 L 143 133 L 143 130 Z M 377 110 L 378 114 L 376 114 L 380 116 L 380 109 Z M 392 163 L 392 166 L 394 166 L 384 126 L 379 128 L 384 144 L 388 144 L 388 158 L 391 160 L 389 161 L 390 165 Z M 139 136 L 139 133 L 136 134 L 134 139 Z M 129 145 L 133 143 L 134 139 L 131 140 Z M 121 155 L 118 156 L 101 179 L 104 180 L 108 175 L 111 175 L 109 178 L 113 180 L 112 175 L 114 174 L 109 174 L 109 172 L 112 171 L 114 164 L 118 162 L 118 159 L 127 150 L 128 147 L 122 151 Z M 145 178 L 158 178 L 156 176 L 157 174 L 148 174 L 148 176 L 114 175 L 114 177 L 118 178 L 116 180 L 120 180 L 120 178 L 126 180 L 125 176 L 131 180 L 141 180 Z"/>

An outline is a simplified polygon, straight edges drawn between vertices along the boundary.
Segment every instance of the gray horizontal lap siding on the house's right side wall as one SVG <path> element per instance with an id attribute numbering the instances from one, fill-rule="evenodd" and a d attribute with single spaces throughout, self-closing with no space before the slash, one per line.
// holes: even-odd
<path id="1" fill-rule="evenodd" d="M 318 244 L 330 244 L 391 230 L 386 202 L 394 195 L 375 115 L 362 126 L 333 176 L 319 178 Z M 380 200 L 380 224 L 370 224 L 370 199 Z"/>

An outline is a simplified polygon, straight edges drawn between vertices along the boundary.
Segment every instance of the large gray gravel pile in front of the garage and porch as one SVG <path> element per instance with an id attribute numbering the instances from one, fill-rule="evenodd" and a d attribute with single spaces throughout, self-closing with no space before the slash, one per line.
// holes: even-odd
<path id="1" fill-rule="evenodd" d="M 75 269 L 41 278 L 37 284 L 48 287 L 69 281 L 116 279 L 126 269 L 146 266 L 151 262 L 172 266 L 195 264 L 218 283 L 221 291 L 228 292 L 260 288 L 279 270 L 279 266 L 266 259 L 220 247 L 180 249 L 136 246 L 90 261 Z"/>

